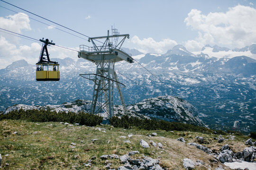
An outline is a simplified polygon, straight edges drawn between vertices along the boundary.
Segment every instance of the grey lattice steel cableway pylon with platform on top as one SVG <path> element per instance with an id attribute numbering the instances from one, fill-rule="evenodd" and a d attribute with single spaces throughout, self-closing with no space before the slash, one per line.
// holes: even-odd
<path id="1" fill-rule="evenodd" d="M 118 37 L 123 37 L 118 43 L 111 42 L 114 38 L 115 41 Z M 131 55 L 121 50 L 121 46 L 125 39 L 129 38 L 129 34 L 113 34 L 100 37 L 89 38 L 88 41 L 92 42 L 93 47 L 88 47 L 85 45 L 80 45 L 80 52 L 78 52 L 78 57 L 87 59 L 97 65 L 96 74 L 80 74 L 80 76 L 92 80 L 94 82 L 92 103 L 91 103 L 91 113 L 106 113 L 108 119 L 114 115 L 113 110 L 113 90 L 114 83 L 118 89 L 120 102 L 122 103 L 124 113 L 127 114 L 124 98 L 121 91 L 121 85 L 118 80 L 118 76 L 115 72 L 115 63 L 119 61 L 127 61 L 128 63 L 133 63 L 133 58 Z M 103 45 L 97 46 L 94 42 L 96 39 L 105 39 Z"/>

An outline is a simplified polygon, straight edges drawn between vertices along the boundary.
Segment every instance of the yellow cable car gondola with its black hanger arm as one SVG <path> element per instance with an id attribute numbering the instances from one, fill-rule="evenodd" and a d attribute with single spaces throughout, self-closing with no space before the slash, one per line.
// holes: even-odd
<path id="1" fill-rule="evenodd" d="M 44 40 L 44 38 L 42 38 L 42 40 L 40 39 L 40 41 L 44 42 L 44 44 L 42 46 L 39 61 L 36 64 L 36 79 L 37 81 L 59 81 L 59 64 L 56 61 L 50 60 L 49 53 L 47 50 L 48 44 L 55 45 L 55 43 L 53 43 L 53 41 L 49 42 L 48 39 Z"/>

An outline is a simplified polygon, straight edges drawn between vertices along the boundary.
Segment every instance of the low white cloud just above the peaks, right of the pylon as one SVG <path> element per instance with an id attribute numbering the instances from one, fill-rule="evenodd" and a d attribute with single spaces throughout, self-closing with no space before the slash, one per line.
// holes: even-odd
<path id="1" fill-rule="evenodd" d="M 177 42 L 171 39 L 164 39 L 163 41 L 156 42 L 153 38 L 144 38 L 140 40 L 138 36 L 133 36 L 131 40 L 128 41 L 131 47 L 136 46 L 136 49 L 144 53 L 165 53 L 177 45 Z"/>

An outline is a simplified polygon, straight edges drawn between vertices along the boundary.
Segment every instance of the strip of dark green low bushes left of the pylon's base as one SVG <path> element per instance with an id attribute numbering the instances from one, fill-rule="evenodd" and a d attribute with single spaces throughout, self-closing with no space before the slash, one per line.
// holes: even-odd
<path id="1" fill-rule="evenodd" d="M 64 112 L 64 111 L 49 111 L 49 110 L 12 110 L 7 114 L 0 114 L 0 120 L 2 119 L 22 119 L 33 122 L 67 122 L 67 123 L 79 123 L 80 125 L 96 126 L 102 122 L 102 117 L 92 115 L 84 112 Z"/>

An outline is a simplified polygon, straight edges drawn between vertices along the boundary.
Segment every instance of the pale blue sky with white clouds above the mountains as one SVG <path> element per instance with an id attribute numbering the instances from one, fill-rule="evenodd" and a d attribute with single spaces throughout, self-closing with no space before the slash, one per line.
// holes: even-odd
<path id="1" fill-rule="evenodd" d="M 136 48 L 143 52 L 165 53 L 175 44 L 183 44 L 190 51 L 200 51 L 201 47 L 208 43 L 241 48 L 256 42 L 256 0 L 6 1 L 90 37 L 106 35 L 107 30 L 115 26 L 120 34 L 130 34 L 130 39 L 124 47 Z M 2 1 L 0 6 L 56 26 Z M 91 46 L 86 40 L 56 29 L 48 29 L 44 24 L 24 19 L 24 16 L 17 16 L 18 14 L 5 8 L 0 7 L 1 28 L 36 39 L 49 38 L 68 48 L 77 49 L 80 44 Z M 0 61 L 3 63 L 0 68 L 6 67 L 14 60 L 26 58 L 26 55 L 38 56 L 37 53 L 40 53 L 40 50 L 37 51 L 38 45 L 32 45 L 34 42 L 2 32 L 0 36 Z M 6 56 L 3 55 L 8 53 L 8 49 L 15 51 L 15 54 L 5 59 Z M 73 53 L 72 55 L 76 56 Z M 32 57 L 28 58 L 34 62 Z"/>

